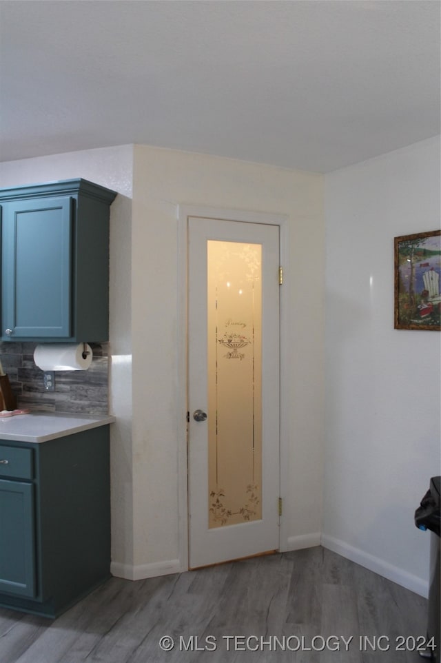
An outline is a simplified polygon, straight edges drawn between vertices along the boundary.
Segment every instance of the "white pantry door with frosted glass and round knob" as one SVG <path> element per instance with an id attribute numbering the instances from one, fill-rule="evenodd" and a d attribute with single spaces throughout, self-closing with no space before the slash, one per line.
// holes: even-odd
<path id="1" fill-rule="evenodd" d="M 278 549 L 279 227 L 188 218 L 189 567 Z"/>

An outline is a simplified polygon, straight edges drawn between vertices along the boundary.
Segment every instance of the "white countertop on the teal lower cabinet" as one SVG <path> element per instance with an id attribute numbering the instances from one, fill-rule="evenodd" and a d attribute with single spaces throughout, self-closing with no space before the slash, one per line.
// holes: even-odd
<path id="1" fill-rule="evenodd" d="M 79 416 L 70 414 L 17 414 L 0 418 L 0 440 L 47 442 L 90 428 L 112 424 L 113 416 Z"/>

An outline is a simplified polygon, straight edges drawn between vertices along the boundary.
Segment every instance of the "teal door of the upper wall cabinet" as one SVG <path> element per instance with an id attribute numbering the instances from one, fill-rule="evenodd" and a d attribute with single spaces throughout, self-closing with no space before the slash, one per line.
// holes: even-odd
<path id="1" fill-rule="evenodd" d="M 3 204 L 2 334 L 71 335 L 72 199 Z"/>

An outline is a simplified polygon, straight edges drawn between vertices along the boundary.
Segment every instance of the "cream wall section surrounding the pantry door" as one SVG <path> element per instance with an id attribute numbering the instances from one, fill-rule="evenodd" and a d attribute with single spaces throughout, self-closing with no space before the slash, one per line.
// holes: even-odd
<path id="1" fill-rule="evenodd" d="M 135 576 L 179 563 L 178 204 L 287 214 L 287 539 L 320 533 L 324 225 L 320 175 L 137 145 L 132 227 Z M 288 287 L 288 285 L 287 285 Z M 318 540 L 320 540 L 318 535 Z M 156 567 L 154 566 L 156 564 Z M 167 569 L 165 569 L 167 570 Z"/>

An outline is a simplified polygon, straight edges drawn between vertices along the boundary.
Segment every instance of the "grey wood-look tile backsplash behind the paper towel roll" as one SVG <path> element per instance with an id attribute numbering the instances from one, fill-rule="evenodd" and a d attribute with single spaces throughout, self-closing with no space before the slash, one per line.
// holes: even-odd
<path id="1" fill-rule="evenodd" d="M 17 396 L 17 407 L 29 407 L 32 412 L 108 414 L 108 343 L 90 343 L 94 356 L 87 371 L 56 371 L 54 391 L 45 389 L 43 371 L 34 363 L 36 345 L 0 343 L 3 371 Z"/>

